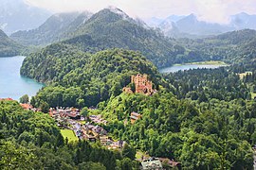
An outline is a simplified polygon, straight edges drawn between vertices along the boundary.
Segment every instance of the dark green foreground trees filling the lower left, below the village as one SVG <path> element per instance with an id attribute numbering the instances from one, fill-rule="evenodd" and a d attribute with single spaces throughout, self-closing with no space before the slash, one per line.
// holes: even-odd
<path id="1" fill-rule="evenodd" d="M 1 169 L 137 169 L 133 148 L 121 152 L 68 143 L 47 114 L 23 110 L 18 102 L 0 101 Z"/>

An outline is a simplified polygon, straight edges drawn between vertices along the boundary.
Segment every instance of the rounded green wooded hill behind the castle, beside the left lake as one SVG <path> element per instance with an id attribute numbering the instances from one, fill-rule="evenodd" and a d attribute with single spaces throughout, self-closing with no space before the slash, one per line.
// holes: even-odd
<path id="1" fill-rule="evenodd" d="M 21 68 L 22 75 L 51 85 L 35 97 L 36 106 L 46 102 L 50 107 L 96 106 L 121 93 L 137 73 L 149 75 L 158 88 L 155 66 L 138 52 L 112 49 L 92 55 L 66 44 L 27 57 Z"/>

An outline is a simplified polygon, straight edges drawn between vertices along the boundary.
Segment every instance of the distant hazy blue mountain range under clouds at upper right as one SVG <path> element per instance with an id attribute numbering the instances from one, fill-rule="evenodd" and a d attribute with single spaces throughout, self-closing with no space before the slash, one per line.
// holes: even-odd
<path id="1" fill-rule="evenodd" d="M 152 18 L 146 23 L 149 26 L 159 28 L 168 37 L 198 38 L 245 28 L 256 29 L 256 15 L 249 15 L 245 12 L 232 15 L 227 25 L 199 21 L 194 14 L 188 16 L 171 15 L 164 20 Z"/>

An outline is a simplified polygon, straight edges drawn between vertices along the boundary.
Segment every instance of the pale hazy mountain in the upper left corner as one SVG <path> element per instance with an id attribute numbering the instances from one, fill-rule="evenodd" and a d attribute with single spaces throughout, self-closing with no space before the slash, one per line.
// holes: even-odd
<path id="1" fill-rule="evenodd" d="M 7 34 L 40 26 L 50 15 L 46 9 L 31 7 L 24 0 L 0 0 L 0 28 Z"/>

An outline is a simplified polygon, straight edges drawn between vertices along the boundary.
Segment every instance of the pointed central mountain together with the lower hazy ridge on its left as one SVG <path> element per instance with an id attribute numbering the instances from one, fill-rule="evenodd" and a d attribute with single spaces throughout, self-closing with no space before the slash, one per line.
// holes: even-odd
<path id="1" fill-rule="evenodd" d="M 16 32 L 10 37 L 26 45 L 46 45 L 62 40 L 62 43 L 92 53 L 117 47 L 136 50 L 159 67 L 174 63 L 175 56 L 185 51 L 175 45 L 174 40 L 149 28 L 141 20 L 134 20 L 119 8 L 104 8 L 93 15 L 53 15 L 42 26 Z"/>

